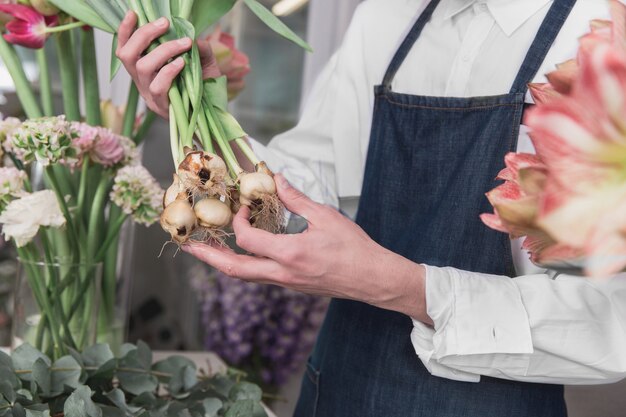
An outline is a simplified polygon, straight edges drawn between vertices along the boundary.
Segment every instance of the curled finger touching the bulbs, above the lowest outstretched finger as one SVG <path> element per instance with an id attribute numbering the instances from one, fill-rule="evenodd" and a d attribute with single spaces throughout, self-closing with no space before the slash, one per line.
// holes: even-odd
<path id="1" fill-rule="evenodd" d="M 237 237 L 237 246 L 255 255 L 282 261 L 283 254 L 289 252 L 288 237 L 275 235 L 250 225 L 250 209 L 242 206 L 233 219 L 233 229 Z"/>

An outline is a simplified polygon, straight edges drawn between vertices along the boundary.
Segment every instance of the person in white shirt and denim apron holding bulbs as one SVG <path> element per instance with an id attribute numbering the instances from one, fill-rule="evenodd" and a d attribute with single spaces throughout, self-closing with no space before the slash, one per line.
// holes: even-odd
<path id="1" fill-rule="evenodd" d="M 184 249 L 236 278 L 335 298 L 297 417 L 564 416 L 562 386 L 545 383 L 626 376 L 626 279 L 553 279 L 478 217 L 504 155 L 530 148 L 527 84 L 573 57 L 594 18 L 607 1 L 366 1 L 299 125 L 253 142 L 307 231 L 253 229 L 243 208 L 237 242 L 257 256 Z M 122 24 L 118 56 L 166 116 L 183 66 L 171 59 L 191 40 L 142 57 L 167 22 L 135 25 Z M 335 207 L 360 197 L 356 224 L 285 177 Z"/>

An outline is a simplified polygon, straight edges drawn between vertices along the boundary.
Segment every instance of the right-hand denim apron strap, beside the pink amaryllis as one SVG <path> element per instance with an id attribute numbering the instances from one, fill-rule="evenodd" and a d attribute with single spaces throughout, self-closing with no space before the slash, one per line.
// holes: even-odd
<path id="1" fill-rule="evenodd" d="M 576 0 L 554 0 L 526 54 L 526 58 L 524 58 L 524 63 L 513 82 L 513 87 L 511 87 L 511 93 L 526 94 L 528 83 L 532 82 L 539 68 L 541 68 L 548 51 L 575 4 Z"/>

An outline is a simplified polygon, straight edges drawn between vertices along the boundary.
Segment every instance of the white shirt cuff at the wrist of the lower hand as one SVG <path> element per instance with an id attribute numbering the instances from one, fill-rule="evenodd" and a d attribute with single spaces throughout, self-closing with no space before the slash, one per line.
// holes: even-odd
<path id="1" fill-rule="evenodd" d="M 426 266 L 437 358 L 533 352 L 528 315 L 510 278 Z"/>

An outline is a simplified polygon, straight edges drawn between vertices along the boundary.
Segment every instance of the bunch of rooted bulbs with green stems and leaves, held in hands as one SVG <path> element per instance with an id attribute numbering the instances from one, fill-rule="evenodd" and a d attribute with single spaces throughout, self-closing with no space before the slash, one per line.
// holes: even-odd
<path id="1" fill-rule="evenodd" d="M 257 0 L 242 1 L 277 33 L 310 49 Z M 166 18 L 170 30 L 154 42 L 153 47 L 156 47 L 174 38 L 196 39 L 232 9 L 237 0 L 50 2 L 68 15 L 114 34 L 129 10 L 136 14 L 140 25 Z M 211 40 L 218 58 L 224 51 L 234 50 L 232 39 L 219 32 Z M 224 47 L 220 48 L 222 45 Z M 234 51 L 232 64 L 245 68 L 241 65 L 247 63 L 244 56 Z M 250 207 L 252 223 L 256 227 L 281 231 L 284 208 L 276 195 L 273 173 L 254 155 L 244 138 L 245 132 L 228 112 L 226 76 L 203 80 L 196 44 L 182 55 L 182 59 L 185 65 L 169 91 L 170 142 L 176 173 L 163 199 L 161 226 L 178 244 L 190 239 L 224 243 L 225 229 L 231 224 L 233 212 L 245 205 Z M 238 80 L 245 72 L 245 69 L 227 70 L 227 75 L 231 76 L 231 91 L 236 91 Z M 255 166 L 255 172 L 246 172 L 242 168 L 231 142 Z"/>

